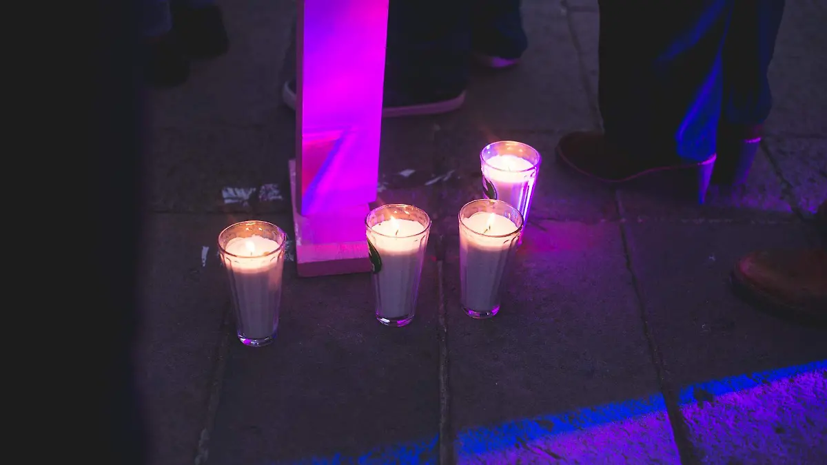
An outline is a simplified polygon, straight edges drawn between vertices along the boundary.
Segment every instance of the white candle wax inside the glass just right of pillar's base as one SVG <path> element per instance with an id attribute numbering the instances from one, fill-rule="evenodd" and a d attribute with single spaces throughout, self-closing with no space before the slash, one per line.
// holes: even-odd
<path id="1" fill-rule="evenodd" d="M 417 221 L 394 218 L 370 229 L 378 233 L 370 235 L 370 242 L 382 260 L 382 268 L 375 274 L 380 316 L 399 319 L 413 314 L 424 257 L 419 249 L 428 239 L 428 234 L 416 235 L 425 228 Z"/>

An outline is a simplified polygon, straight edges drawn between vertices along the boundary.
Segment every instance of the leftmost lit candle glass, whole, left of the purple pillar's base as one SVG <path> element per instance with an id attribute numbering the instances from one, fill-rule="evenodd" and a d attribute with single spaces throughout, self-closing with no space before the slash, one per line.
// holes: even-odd
<path id="1" fill-rule="evenodd" d="M 287 235 L 264 221 L 233 224 L 218 235 L 218 252 L 230 280 L 238 339 L 251 347 L 273 342 L 279 326 Z"/>

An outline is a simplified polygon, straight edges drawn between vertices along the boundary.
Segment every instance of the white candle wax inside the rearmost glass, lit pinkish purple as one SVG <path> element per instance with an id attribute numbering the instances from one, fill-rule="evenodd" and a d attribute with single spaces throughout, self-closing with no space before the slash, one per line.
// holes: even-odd
<path id="1" fill-rule="evenodd" d="M 496 199 L 518 209 L 523 213 L 523 220 L 528 215 L 537 179 L 537 170 L 532 170 L 533 167 L 531 161 L 508 154 L 492 156 L 482 164 L 482 175 L 494 185 Z"/>

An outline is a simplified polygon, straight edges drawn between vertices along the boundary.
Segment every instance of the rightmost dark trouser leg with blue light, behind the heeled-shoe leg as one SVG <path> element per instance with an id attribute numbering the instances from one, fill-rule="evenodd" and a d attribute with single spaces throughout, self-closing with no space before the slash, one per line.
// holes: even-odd
<path id="1" fill-rule="evenodd" d="M 746 180 L 770 113 L 767 70 L 775 50 L 784 0 L 736 2 L 724 41 L 724 98 L 715 182 Z"/>

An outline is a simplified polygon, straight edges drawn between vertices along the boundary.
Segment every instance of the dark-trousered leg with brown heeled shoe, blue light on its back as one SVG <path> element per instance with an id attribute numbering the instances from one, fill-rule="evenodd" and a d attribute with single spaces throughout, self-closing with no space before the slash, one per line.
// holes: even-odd
<path id="1" fill-rule="evenodd" d="M 600 5 L 600 113 L 605 134 L 564 137 L 557 155 L 601 180 L 699 170 L 715 162 L 722 49 L 732 0 Z"/>

